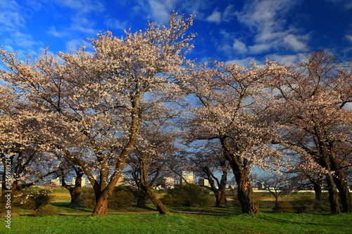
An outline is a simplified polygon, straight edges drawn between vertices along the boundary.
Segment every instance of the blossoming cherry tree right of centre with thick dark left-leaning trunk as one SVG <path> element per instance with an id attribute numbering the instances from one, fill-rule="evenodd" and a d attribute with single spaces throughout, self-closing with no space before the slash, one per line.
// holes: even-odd
<path id="1" fill-rule="evenodd" d="M 192 69 L 192 79 L 184 89 L 198 100 L 189 111 L 189 137 L 194 140 L 217 140 L 238 185 L 238 197 L 244 213 L 258 212 L 250 183 L 252 165 L 264 166 L 278 156 L 270 148 L 275 122 L 263 113 L 270 104 L 265 92 L 267 76 L 286 72 L 276 63 L 267 62 L 263 68 L 251 63 L 250 68 L 237 64 L 215 62 L 210 68 L 201 65 Z"/>

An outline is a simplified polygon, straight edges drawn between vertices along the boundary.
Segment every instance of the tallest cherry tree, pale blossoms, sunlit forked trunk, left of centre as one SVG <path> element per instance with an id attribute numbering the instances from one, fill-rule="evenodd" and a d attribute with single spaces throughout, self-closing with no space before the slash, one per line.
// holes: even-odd
<path id="1" fill-rule="evenodd" d="M 192 24 L 172 13 L 168 26 L 148 22 L 144 31 L 109 31 L 72 53 L 44 51 L 26 61 L 1 50 L 9 67 L 1 78 L 39 106 L 41 147 L 80 167 L 96 195 L 93 214 L 108 214 L 108 196 L 120 178 L 144 122 L 144 110 L 177 98 L 175 84 L 187 65 Z M 82 152 L 80 154 L 74 152 Z"/>

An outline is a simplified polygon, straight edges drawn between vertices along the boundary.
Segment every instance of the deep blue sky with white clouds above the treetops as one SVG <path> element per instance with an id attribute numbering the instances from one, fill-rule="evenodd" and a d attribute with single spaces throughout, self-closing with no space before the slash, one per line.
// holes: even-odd
<path id="1" fill-rule="evenodd" d="M 70 51 L 107 29 L 119 37 L 147 20 L 165 23 L 173 9 L 196 14 L 189 58 L 200 61 L 294 63 L 318 46 L 352 57 L 351 0 L 1 0 L 0 9 L 0 45 L 23 57 L 46 46 Z"/>

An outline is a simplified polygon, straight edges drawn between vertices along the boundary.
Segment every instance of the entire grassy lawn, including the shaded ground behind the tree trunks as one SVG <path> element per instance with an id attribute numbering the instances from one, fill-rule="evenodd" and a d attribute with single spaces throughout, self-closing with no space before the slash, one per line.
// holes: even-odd
<path id="1" fill-rule="evenodd" d="M 92 208 L 68 208 L 68 190 L 55 189 L 54 195 L 49 206 L 58 214 L 39 217 L 18 209 L 11 229 L 1 216 L 0 233 L 352 233 L 352 214 L 276 214 L 264 208 L 249 215 L 234 207 L 168 207 L 170 214 L 163 216 L 152 206 L 130 206 L 92 216 Z M 262 200 L 272 202 L 267 198 Z"/>

